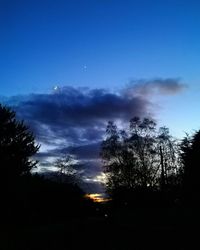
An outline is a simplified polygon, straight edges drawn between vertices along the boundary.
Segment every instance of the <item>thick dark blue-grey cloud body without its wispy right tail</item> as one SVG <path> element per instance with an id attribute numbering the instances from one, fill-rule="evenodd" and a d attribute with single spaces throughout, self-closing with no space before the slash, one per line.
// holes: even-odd
<path id="1" fill-rule="evenodd" d="M 53 144 L 64 138 L 80 144 L 99 140 L 108 120 L 144 115 L 150 103 L 142 97 L 129 98 L 104 89 L 65 87 L 51 94 L 30 95 L 13 106 L 40 142 Z"/>

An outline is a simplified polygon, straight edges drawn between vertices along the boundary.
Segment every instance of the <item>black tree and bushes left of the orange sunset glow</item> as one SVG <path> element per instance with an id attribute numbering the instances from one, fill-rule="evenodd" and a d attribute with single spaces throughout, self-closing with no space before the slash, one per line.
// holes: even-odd
<path id="1" fill-rule="evenodd" d="M 90 201 L 83 198 L 75 178 L 72 182 L 66 176 L 67 182 L 66 173 L 62 173 L 62 181 L 55 181 L 32 174 L 37 163 L 32 156 L 38 149 L 23 121 L 17 121 L 10 108 L 0 106 L 0 199 L 4 222 L 43 223 L 89 211 Z"/>

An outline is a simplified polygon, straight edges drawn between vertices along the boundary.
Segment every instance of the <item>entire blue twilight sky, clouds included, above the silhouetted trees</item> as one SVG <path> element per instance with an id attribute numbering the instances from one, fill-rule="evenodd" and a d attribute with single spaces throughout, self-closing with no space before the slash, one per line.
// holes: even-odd
<path id="1" fill-rule="evenodd" d="M 196 0 L 0 0 L 0 100 L 31 127 L 41 166 L 69 152 L 98 181 L 108 120 L 199 129 L 199 13 Z"/>

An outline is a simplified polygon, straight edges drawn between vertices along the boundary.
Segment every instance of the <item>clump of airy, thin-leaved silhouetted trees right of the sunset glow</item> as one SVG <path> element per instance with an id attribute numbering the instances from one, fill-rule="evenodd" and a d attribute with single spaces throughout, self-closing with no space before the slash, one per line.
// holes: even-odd
<path id="1" fill-rule="evenodd" d="M 158 130 L 149 118 L 134 117 L 127 131 L 108 122 L 101 156 L 109 192 L 164 189 L 178 172 L 175 141 L 167 128 Z"/>

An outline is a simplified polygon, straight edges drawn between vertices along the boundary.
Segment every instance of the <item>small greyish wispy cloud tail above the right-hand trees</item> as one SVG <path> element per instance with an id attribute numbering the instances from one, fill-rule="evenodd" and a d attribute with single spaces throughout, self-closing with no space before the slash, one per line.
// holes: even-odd
<path id="1" fill-rule="evenodd" d="M 187 88 L 186 84 L 180 82 L 179 78 L 155 78 L 152 80 L 131 81 L 124 89 L 126 96 L 143 96 L 150 95 L 176 95 Z"/>

